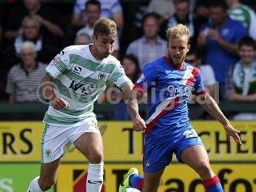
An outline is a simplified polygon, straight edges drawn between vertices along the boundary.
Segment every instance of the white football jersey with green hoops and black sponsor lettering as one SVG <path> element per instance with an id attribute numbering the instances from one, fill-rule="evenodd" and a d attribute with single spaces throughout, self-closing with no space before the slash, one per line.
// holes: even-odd
<path id="1" fill-rule="evenodd" d="M 45 72 L 54 79 L 52 83 L 57 98 L 65 99 L 68 107 L 56 110 L 50 104 L 43 122 L 62 126 L 95 116 L 93 103 L 109 83 L 122 88 L 131 82 L 120 61 L 111 55 L 96 60 L 89 45 L 66 47 L 49 63 Z"/>

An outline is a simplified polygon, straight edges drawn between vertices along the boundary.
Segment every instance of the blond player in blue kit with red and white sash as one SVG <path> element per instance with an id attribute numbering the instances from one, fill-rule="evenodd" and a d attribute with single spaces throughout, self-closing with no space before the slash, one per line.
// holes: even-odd
<path id="1" fill-rule="evenodd" d="M 202 107 L 218 120 L 228 134 L 239 143 L 239 131 L 223 115 L 218 104 L 205 92 L 200 70 L 185 63 L 189 51 L 189 29 L 178 24 L 166 31 L 168 56 L 148 63 L 129 98 L 128 110 L 135 131 L 145 131 L 143 176 L 131 168 L 119 187 L 119 192 L 132 187 L 143 192 L 159 189 L 164 168 L 170 164 L 173 152 L 181 163 L 188 164 L 200 175 L 205 191 L 221 192 L 220 179 L 214 174 L 204 144 L 189 123 L 190 93 Z M 150 53 L 148 53 L 150 54 Z M 148 120 L 138 113 L 138 100 L 148 95 Z M 144 177 L 144 178 L 143 178 Z"/>

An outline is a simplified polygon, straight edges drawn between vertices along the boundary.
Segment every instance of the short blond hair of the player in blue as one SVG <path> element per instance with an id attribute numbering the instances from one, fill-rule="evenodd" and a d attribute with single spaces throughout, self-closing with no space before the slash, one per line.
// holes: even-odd
<path id="1" fill-rule="evenodd" d="M 171 26 L 166 30 L 166 38 L 168 41 L 170 40 L 170 38 L 177 38 L 180 36 L 187 36 L 189 43 L 189 29 L 187 26 L 184 26 L 183 24 Z"/>

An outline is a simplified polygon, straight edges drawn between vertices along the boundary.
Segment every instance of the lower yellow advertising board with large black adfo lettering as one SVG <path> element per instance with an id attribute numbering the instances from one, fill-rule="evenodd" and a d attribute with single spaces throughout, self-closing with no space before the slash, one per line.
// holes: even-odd
<path id="1" fill-rule="evenodd" d="M 118 192 L 118 185 L 132 166 L 142 173 L 141 164 L 105 164 L 102 192 Z M 225 192 L 256 191 L 256 167 L 250 164 L 213 164 Z M 57 192 L 85 190 L 87 164 L 61 164 Z M 200 177 L 185 164 L 172 164 L 164 172 L 160 192 L 202 192 Z"/>

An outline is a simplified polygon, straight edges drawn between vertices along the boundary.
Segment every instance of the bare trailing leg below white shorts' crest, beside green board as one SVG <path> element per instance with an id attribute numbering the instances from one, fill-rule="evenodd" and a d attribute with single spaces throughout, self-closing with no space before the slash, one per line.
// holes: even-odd
<path id="1" fill-rule="evenodd" d="M 42 163 L 40 180 L 43 182 L 51 182 L 54 184 L 57 179 L 58 167 L 60 164 L 60 158 L 52 161 L 51 163 Z"/>

